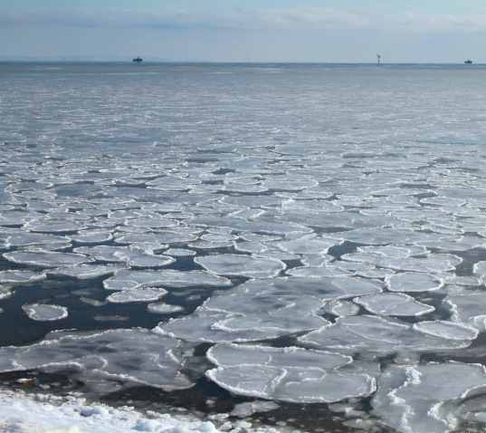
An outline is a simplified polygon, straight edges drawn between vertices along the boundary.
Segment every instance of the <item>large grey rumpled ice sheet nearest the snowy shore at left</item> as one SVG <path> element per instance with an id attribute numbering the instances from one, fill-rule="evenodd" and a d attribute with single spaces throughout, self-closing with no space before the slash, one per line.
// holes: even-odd
<path id="1" fill-rule="evenodd" d="M 45 342 L 1 349 L 0 370 L 55 370 L 69 366 L 78 369 L 84 380 L 129 380 L 163 390 L 193 385 L 180 372 L 186 361 L 182 356 L 185 346 L 147 330 L 54 332 Z"/>

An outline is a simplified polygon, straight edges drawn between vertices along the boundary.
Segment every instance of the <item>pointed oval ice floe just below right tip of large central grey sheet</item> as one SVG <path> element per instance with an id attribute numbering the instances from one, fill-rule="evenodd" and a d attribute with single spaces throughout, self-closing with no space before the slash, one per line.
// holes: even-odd
<path id="1" fill-rule="evenodd" d="M 418 303 L 412 296 L 404 293 L 378 293 L 353 299 L 363 305 L 368 312 L 383 316 L 420 316 L 432 313 L 430 305 Z"/>

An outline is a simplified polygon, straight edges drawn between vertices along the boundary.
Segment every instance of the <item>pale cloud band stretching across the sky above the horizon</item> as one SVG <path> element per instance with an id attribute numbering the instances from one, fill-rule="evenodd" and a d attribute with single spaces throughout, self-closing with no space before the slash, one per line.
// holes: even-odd
<path id="1" fill-rule="evenodd" d="M 331 8 L 258 9 L 232 13 L 155 14 L 133 10 L 93 12 L 0 12 L 0 25 L 56 25 L 68 27 L 121 27 L 159 29 L 320 29 L 394 30 L 419 33 L 485 32 L 486 11 L 475 15 L 387 14 L 376 5 L 375 14 L 366 17 Z"/>

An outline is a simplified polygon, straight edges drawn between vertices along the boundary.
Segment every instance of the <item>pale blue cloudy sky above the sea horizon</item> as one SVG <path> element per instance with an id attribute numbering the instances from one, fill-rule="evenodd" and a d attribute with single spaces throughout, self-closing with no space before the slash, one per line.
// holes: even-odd
<path id="1" fill-rule="evenodd" d="M 486 63 L 484 0 L 0 0 L 0 60 Z"/>

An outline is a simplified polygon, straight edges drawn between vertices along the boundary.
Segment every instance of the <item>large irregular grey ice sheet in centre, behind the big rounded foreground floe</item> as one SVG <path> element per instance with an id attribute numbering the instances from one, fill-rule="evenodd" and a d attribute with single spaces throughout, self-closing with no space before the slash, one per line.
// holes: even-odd
<path id="1" fill-rule="evenodd" d="M 157 332 L 198 342 L 268 340 L 329 324 L 318 315 L 323 302 L 380 293 L 382 285 L 355 278 L 251 280 L 208 299 L 190 316 L 159 323 Z"/>

